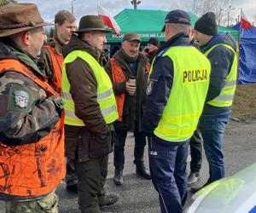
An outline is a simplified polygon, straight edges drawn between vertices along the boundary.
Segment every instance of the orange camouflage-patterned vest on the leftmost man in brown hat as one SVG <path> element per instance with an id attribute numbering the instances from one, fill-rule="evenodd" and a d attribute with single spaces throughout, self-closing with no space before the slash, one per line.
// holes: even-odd
<path id="1" fill-rule="evenodd" d="M 47 95 L 58 95 L 19 60 L 1 60 L 0 73 L 4 70 L 20 72 L 37 83 Z M 41 196 L 52 192 L 61 183 L 65 176 L 63 123 L 61 118 L 49 135 L 30 144 L 7 146 L 0 141 L 0 193 Z"/>

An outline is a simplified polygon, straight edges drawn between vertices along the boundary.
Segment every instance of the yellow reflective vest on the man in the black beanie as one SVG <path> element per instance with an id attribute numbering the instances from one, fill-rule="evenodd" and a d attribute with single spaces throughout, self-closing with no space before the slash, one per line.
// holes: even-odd
<path id="1" fill-rule="evenodd" d="M 224 84 L 224 88 L 221 90 L 220 94 L 217 97 L 215 97 L 212 101 L 208 101 L 207 104 L 214 107 L 231 107 L 233 103 L 235 91 L 236 91 L 236 79 L 237 79 L 236 52 L 229 45 L 221 43 L 207 50 L 205 55 L 207 56 L 212 51 L 212 49 L 216 48 L 219 45 L 223 45 L 227 49 L 230 49 L 234 53 L 234 60 L 231 66 L 230 73 L 226 78 L 226 83 Z"/>

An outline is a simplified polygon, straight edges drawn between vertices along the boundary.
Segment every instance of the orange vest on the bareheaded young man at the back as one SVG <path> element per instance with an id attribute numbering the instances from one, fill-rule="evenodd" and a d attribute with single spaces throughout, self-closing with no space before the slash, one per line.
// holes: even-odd
<path id="1" fill-rule="evenodd" d="M 63 56 L 55 53 L 55 48 L 49 45 L 44 46 L 49 51 L 50 58 L 52 60 L 54 75 L 51 86 L 61 94 L 61 75 L 62 75 L 62 64 Z"/>

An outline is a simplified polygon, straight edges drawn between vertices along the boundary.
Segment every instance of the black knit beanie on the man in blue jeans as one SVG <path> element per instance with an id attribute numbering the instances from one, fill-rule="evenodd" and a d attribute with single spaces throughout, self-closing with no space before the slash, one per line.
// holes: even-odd
<path id="1" fill-rule="evenodd" d="M 215 14 L 208 12 L 195 22 L 195 30 L 208 36 L 218 33 Z"/>

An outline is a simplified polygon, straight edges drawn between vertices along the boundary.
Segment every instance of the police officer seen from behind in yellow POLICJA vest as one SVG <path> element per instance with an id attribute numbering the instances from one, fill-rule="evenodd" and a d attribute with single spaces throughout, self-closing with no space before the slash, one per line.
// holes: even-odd
<path id="1" fill-rule="evenodd" d="M 189 14 L 166 15 L 166 44 L 155 57 L 148 80 L 143 131 L 150 173 L 160 194 L 161 212 L 183 212 L 187 197 L 189 139 L 200 118 L 210 77 L 210 63 L 189 43 Z"/>

